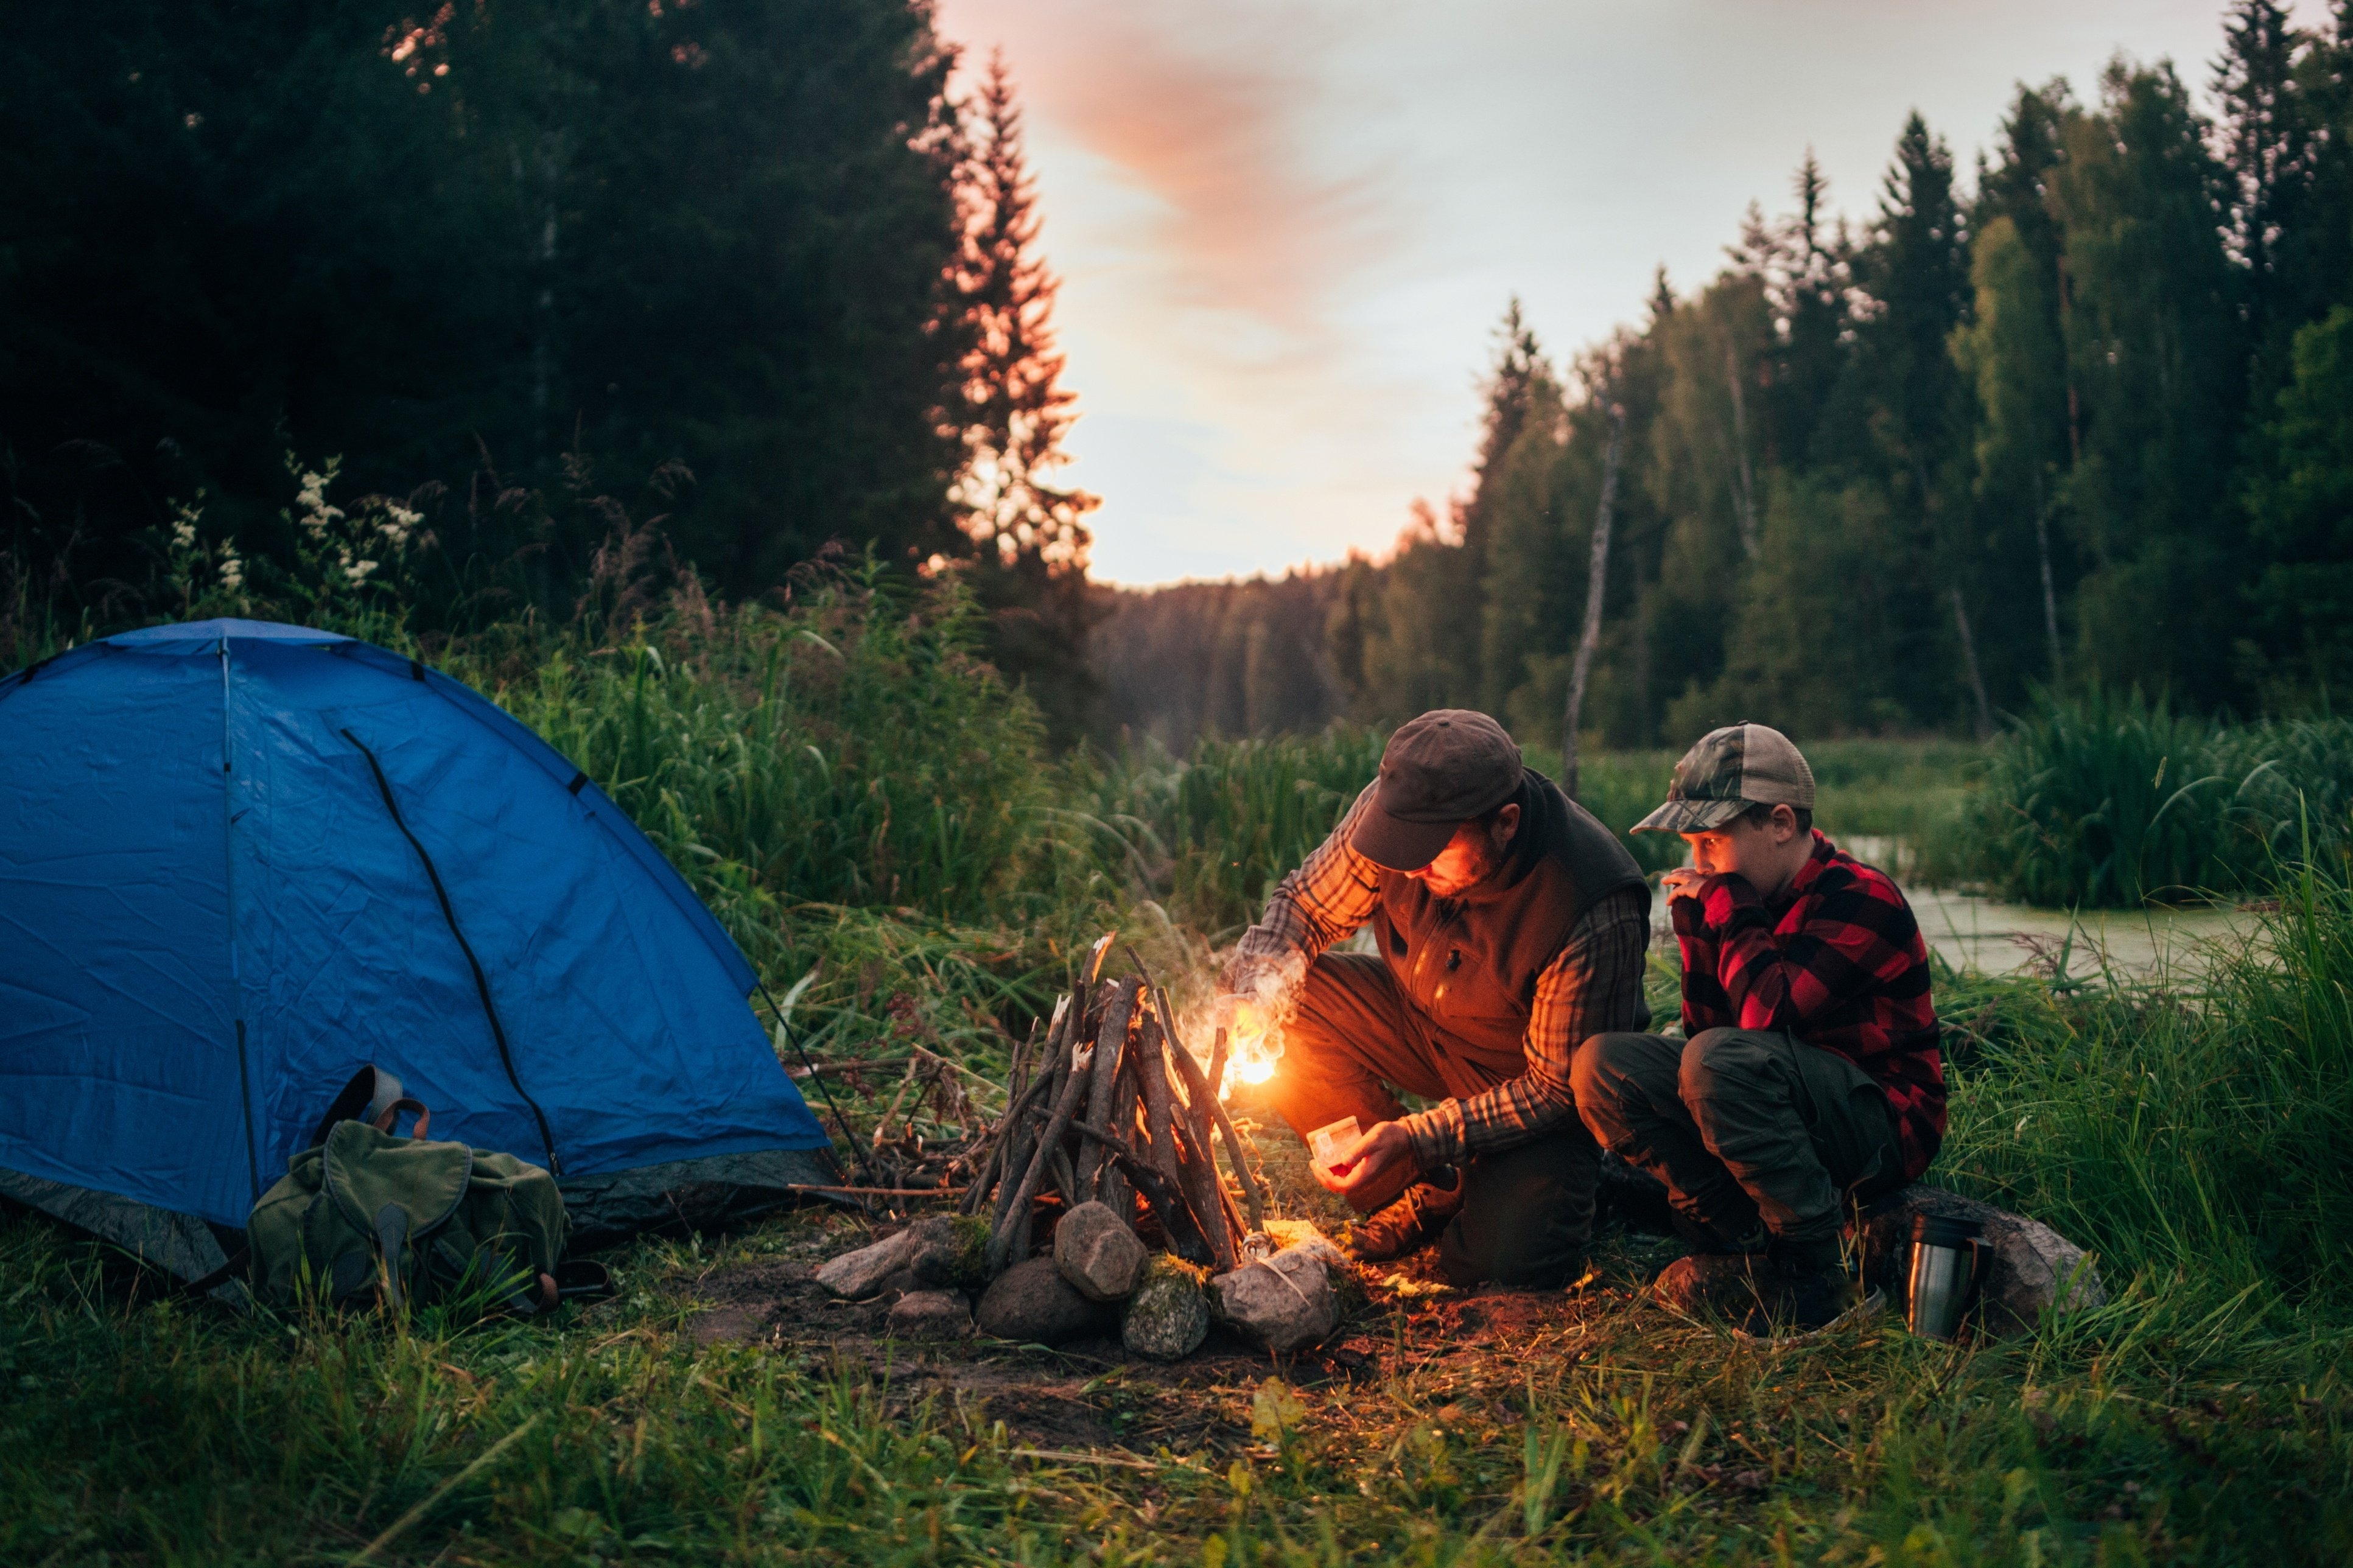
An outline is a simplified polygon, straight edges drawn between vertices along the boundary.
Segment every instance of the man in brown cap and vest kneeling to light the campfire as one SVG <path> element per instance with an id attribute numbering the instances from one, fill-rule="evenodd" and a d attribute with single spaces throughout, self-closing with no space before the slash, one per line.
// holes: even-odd
<path id="1" fill-rule="evenodd" d="M 1332 954 L 1372 925 L 1379 956 Z M 1640 1029 L 1649 890 L 1626 845 L 1485 713 L 1400 727 L 1381 777 L 1242 935 L 1221 991 L 1285 1022 L 1266 1085 L 1301 1135 L 1355 1116 L 1318 1180 L 1358 1260 L 1433 1241 L 1454 1283 L 1565 1283 L 1600 1151 L 1577 1043 Z M 1438 1099 L 1405 1114 L 1395 1090 Z"/>

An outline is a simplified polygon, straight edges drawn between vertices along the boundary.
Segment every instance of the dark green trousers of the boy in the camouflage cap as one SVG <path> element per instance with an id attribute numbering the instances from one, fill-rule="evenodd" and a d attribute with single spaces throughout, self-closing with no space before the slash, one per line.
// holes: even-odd
<path id="1" fill-rule="evenodd" d="M 1758 1220 L 1784 1241 L 1838 1236 L 1840 1198 L 1904 1184 L 1887 1095 L 1861 1067 L 1774 1029 L 1598 1034 L 1569 1069 L 1605 1149 L 1668 1187 L 1722 1243 Z"/>

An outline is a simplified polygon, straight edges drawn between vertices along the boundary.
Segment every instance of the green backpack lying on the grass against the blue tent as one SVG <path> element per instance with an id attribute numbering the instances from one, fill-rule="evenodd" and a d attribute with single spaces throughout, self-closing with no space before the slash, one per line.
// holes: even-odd
<path id="1" fill-rule="evenodd" d="M 400 1111 L 416 1114 L 409 1137 L 393 1132 Z M 292 1307 L 308 1278 L 336 1307 L 487 1293 L 485 1304 L 527 1316 L 598 1293 L 602 1269 L 560 1262 L 572 1222 L 555 1177 L 513 1154 L 428 1142 L 431 1123 L 388 1074 L 353 1078 L 245 1222 L 254 1295 Z"/>

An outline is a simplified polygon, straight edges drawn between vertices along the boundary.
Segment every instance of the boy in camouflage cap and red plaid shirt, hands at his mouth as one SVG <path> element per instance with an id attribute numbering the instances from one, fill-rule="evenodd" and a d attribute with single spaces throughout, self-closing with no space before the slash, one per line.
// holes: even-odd
<path id="1" fill-rule="evenodd" d="M 1842 1198 L 1901 1187 L 1944 1142 L 1920 925 L 1814 829 L 1814 772 L 1765 725 L 1708 732 L 1635 831 L 1692 845 L 1692 866 L 1661 878 L 1685 1038 L 1586 1041 L 1577 1109 L 1666 1182 L 1699 1245 L 1659 1276 L 1661 1300 L 1746 1307 L 1751 1333 L 1821 1328 L 1852 1302 Z"/>

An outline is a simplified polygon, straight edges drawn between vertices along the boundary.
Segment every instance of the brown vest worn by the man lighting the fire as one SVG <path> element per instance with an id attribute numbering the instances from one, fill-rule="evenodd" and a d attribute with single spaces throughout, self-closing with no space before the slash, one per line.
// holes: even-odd
<path id="1" fill-rule="evenodd" d="M 1534 768 L 1513 800 L 1520 831 L 1485 881 L 1440 899 L 1402 871 L 1384 871 L 1372 918 L 1405 1003 L 1459 1041 L 1506 1052 L 1527 1038 L 1537 977 L 1577 921 L 1619 888 L 1642 885 L 1617 833 Z"/>

